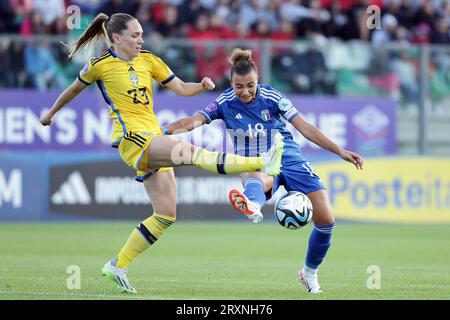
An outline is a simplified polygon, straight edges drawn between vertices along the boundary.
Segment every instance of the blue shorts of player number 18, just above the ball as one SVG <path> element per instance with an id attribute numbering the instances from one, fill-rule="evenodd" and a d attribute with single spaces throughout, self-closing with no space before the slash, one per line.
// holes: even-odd
<path id="1" fill-rule="evenodd" d="M 281 173 L 274 177 L 272 191 L 266 193 L 267 200 L 277 192 L 280 186 L 286 191 L 300 191 L 304 194 L 325 189 L 319 175 L 311 167 L 309 161 L 287 158 L 282 160 Z"/>

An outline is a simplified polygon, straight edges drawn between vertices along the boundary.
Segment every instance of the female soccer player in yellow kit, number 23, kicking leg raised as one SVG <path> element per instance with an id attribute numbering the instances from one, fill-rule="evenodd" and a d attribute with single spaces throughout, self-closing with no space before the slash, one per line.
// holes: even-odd
<path id="1" fill-rule="evenodd" d="M 131 15 L 100 13 L 70 46 L 73 57 L 85 45 L 105 37 L 108 50 L 92 58 L 78 78 L 41 116 L 44 126 L 54 115 L 89 84 L 96 82 L 114 119 L 112 146 L 118 148 L 123 161 L 137 171 L 153 205 L 154 213 L 133 230 L 119 254 L 102 268 L 102 275 L 123 292 L 136 293 L 128 282 L 129 263 L 146 250 L 176 219 L 176 184 L 172 166 L 194 165 L 213 173 L 233 174 L 261 171 L 277 175 L 281 168 L 283 139 L 259 157 L 210 152 L 187 142 L 165 137 L 153 111 L 152 79 L 176 94 L 193 96 L 214 89 L 209 78 L 201 83 L 185 83 L 177 78 L 158 57 L 142 50 L 143 34 L 139 22 Z"/>

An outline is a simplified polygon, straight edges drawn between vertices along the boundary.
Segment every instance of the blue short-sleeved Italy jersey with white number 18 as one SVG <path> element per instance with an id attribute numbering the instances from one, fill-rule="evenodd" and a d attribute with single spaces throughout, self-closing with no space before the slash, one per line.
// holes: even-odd
<path id="1" fill-rule="evenodd" d="M 270 148 L 275 133 L 280 132 L 285 141 L 284 155 L 303 158 L 286 128 L 286 121 L 292 121 L 299 113 L 286 96 L 268 85 L 258 85 L 256 99 L 251 103 L 240 101 L 229 88 L 200 113 L 207 123 L 216 119 L 225 122 L 239 155 L 259 156 Z"/>

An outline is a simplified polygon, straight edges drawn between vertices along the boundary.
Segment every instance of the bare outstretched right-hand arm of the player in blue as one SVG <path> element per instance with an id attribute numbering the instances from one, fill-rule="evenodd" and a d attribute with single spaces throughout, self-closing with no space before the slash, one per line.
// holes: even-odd
<path id="1" fill-rule="evenodd" d="M 325 136 L 322 131 L 303 119 L 302 116 L 297 115 L 294 119 L 292 119 L 291 123 L 309 141 L 312 141 L 318 146 L 336 153 L 342 159 L 353 163 L 356 169 L 362 169 L 364 165 L 363 157 L 355 152 L 345 150 L 335 144 L 327 136 Z"/>

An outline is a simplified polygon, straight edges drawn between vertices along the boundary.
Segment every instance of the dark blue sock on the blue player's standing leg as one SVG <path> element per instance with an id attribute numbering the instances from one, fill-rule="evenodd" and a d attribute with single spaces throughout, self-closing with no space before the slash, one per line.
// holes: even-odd
<path id="1" fill-rule="evenodd" d="M 305 265 L 311 269 L 317 269 L 322 263 L 328 248 L 331 245 L 331 233 L 334 223 L 316 224 L 309 236 L 308 253 Z"/>

